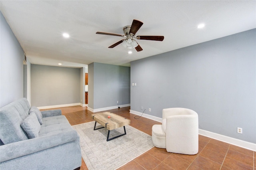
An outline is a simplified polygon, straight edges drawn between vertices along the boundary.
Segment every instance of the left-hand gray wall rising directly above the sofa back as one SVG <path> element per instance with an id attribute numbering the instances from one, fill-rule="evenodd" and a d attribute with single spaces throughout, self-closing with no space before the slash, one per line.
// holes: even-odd
<path id="1" fill-rule="evenodd" d="M 24 51 L 0 14 L 0 107 L 23 97 Z"/>

